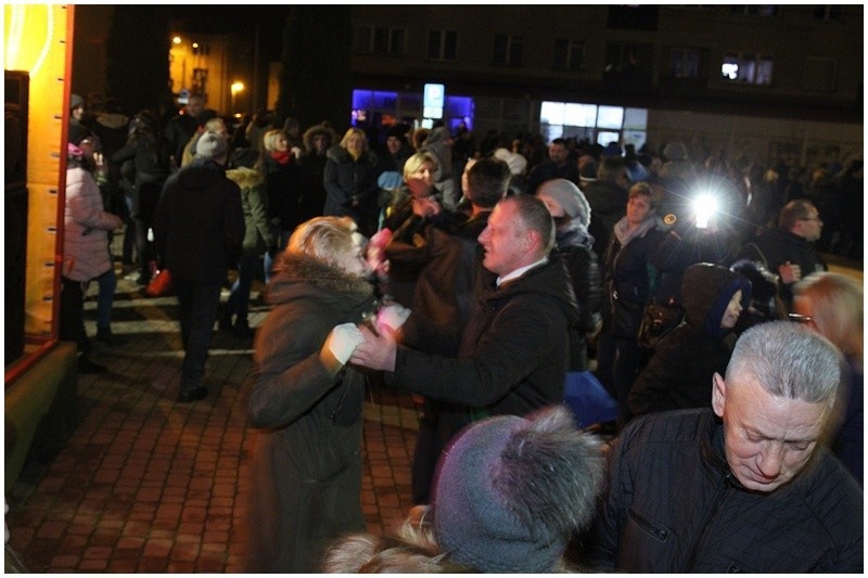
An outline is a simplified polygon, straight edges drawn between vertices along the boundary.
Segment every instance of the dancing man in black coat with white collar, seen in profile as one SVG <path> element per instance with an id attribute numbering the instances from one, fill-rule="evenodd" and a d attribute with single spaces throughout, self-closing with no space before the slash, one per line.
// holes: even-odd
<path id="1" fill-rule="evenodd" d="M 366 341 L 352 358 L 386 371 L 387 383 L 463 406 L 454 431 L 442 433 L 446 440 L 485 415 L 525 415 L 560 403 L 570 326 L 578 323 L 566 269 L 560 260 L 549 260 L 554 226 L 541 201 L 529 195 L 503 198 L 478 240 L 484 270 L 457 357 L 408 347 L 448 345 L 449 338 L 413 313 L 400 330 L 407 345 L 397 345 L 388 331 L 374 335 L 362 327 Z"/>

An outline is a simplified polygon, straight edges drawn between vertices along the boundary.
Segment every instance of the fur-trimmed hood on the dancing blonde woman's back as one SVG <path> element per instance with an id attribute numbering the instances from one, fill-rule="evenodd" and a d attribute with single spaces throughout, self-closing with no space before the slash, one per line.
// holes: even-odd
<path id="1" fill-rule="evenodd" d="M 308 256 L 282 253 L 275 262 L 265 300 L 280 305 L 303 297 L 343 301 L 347 309 L 370 301 L 371 309 L 367 312 L 375 308 L 373 285 L 366 279 Z"/>

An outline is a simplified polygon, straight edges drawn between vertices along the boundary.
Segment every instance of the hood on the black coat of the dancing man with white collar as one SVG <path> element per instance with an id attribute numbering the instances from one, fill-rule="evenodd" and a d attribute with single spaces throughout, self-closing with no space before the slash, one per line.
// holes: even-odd
<path id="1" fill-rule="evenodd" d="M 494 286 L 495 274 L 484 271 L 492 279 Z M 549 257 L 546 265 L 534 267 L 520 278 L 503 283 L 499 288 L 486 292 L 482 298 L 492 308 L 499 307 L 500 301 L 506 301 L 519 295 L 533 295 L 535 299 L 547 298 L 558 305 L 570 326 L 579 324 L 578 305 L 573 292 L 573 282 L 563 259 Z"/>

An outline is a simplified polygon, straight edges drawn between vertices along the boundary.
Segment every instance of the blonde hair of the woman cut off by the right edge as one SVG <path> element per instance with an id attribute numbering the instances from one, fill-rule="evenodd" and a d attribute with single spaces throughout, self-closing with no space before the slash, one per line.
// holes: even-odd
<path id="1" fill-rule="evenodd" d="M 840 273 L 812 273 L 793 287 L 795 298 L 810 304 L 817 331 L 845 356 L 863 358 L 864 291 Z"/>

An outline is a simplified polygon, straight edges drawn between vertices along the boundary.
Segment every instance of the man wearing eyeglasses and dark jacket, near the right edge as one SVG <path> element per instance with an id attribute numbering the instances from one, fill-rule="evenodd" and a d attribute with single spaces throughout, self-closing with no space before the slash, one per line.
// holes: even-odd
<path id="1" fill-rule="evenodd" d="M 790 201 L 780 211 L 777 229 L 762 230 L 739 253 L 736 260 L 761 262 L 778 274 L 778 293 L 792 311 L 792 286 L 803 277 L 829 267 L 814 246 L 822 232 L 822 221 L 810 201 Z"/>

